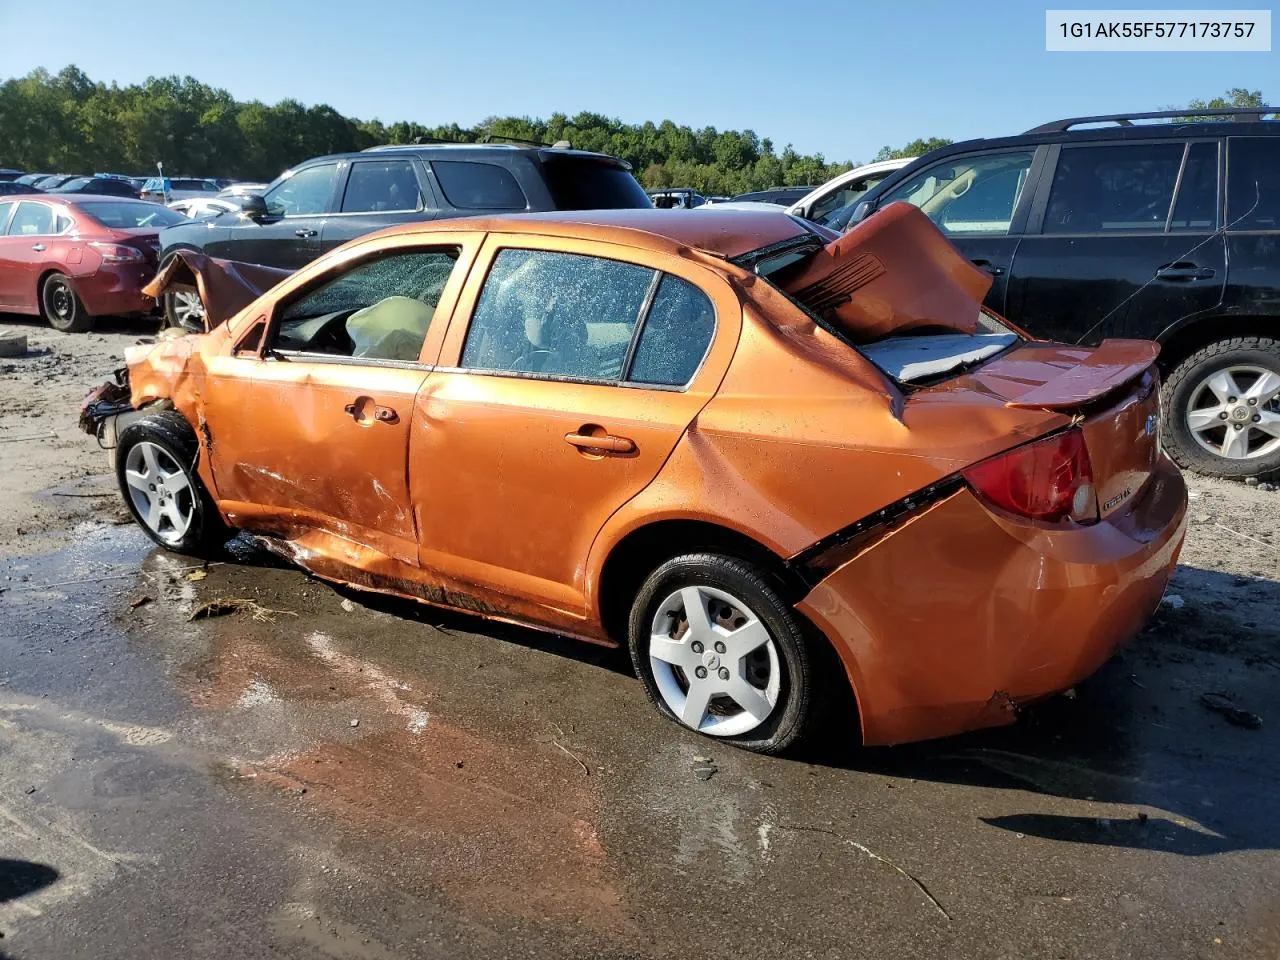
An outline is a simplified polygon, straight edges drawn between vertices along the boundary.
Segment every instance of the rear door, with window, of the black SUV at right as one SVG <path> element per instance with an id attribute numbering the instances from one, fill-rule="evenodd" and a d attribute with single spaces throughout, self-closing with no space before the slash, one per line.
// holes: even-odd
<path id="1" fill-rule="evenodd" d="M 1007 316 L 1036 337 L 1155 339 L 1226 282 L 1217 140 L 1064 143 L 1018 247 Z"/>

